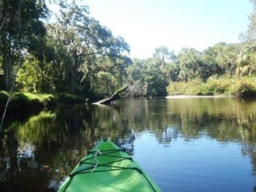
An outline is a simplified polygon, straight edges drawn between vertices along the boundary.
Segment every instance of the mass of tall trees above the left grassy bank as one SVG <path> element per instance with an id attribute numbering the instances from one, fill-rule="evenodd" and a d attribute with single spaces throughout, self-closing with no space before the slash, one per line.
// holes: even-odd
<path id="1" fill-rule="evenodd" d="M 3 11 L 0 16 L 6 17 L 1 22 L 0 26 L 3 27 L 0 32 L 7 40 L 2 39 L 13 41 L 9 43 L 10 49 L 5 49 L 5 44 L 1 42 L 3 89 L 10 90 L 14 76 L 10 72 L 16 73 L 15 68 L 18 67 L 17 89 L 26 92 L 104 95 L 123 84 L 124 66 L 131 60 L 121 53 L 129 52 L 129 45 L 122 37 L 115 37 L 108 28 L 89 16 L 88 6 L 79 6 L 75 1 L 56 1 L 61 13 L 55 23 L 48 24 L 45 19 L 49 17 L 49 11 L 45 1 L 29 1 L 30 4 L 22 0 L 14 2 L 16 19 L 10 21 L 12 26 L 9 27 L 9 15 L 4 9 L 11 2 L 0 1 Z M 20 10 L 28 9 L 31 15 L 21 11 L 19 17 L 19 3 Z M 21 23 L 21 35 L 18 37 L 19 20 L 24 22 Z M 38 24 L 34 24 L 35 20 Z M 35 29 L 34 25 L 37 25 Z M 10 36 L 9 28 L 12 29 L 13 37 Z M 37 34 L 37 30 L 41 33 Z M 31 34 L 22 35 L 28 32 Z M 21 66 L 17 66 L 18 42 L 22 45 Z M 5 51 L 10 57 L 7 62 Z M 9 79 L 6 80 L 6 76 Z"/>

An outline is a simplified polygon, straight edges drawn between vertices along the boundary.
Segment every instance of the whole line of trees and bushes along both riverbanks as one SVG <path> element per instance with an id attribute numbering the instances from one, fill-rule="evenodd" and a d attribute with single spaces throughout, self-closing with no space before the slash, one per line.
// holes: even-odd
<path id="1" fill-rule="evenodd" d="M 243 91 L 245 84 L 246 89 L 254 91 L 251 85 L 255 80 L 244 77 L 256 75 L 256 9 L 240 43 L 221 42 L 204 51 L 183 48 L 178 53 L 159 47 L 148 59 L 131 59 L 125 40 L 92 18 L 88 6 L 76 1 L 54 2 L 61 7 L 61 13 L 56 22 L 49 23 L 50 11 L 43 0 L 21 0 L 20 11 L 16 0 L 0 0 L 3 90 L 10 90 L 17 73 L 16 91 L 91 98 L 107 96 L 126 84 L 134 97 L 165 96 L 167 90 L 169 94 L 243 95 L 239 90 Z M 233 86 L 232 90 L 222 88 L 223 79 L 228 87 Z M 234 88 L 236 83 L 229 81 L 239 82 L 239 90 Z M 213 82 L 221 86 L 221 91 L 210 88 Z M 198 83 L 200 87 L 187 90 Z"/>

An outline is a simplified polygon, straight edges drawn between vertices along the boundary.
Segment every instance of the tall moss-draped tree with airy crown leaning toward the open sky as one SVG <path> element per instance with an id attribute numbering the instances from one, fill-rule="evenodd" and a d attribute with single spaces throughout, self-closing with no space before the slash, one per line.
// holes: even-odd
<path id="1" fill-rule="evenodd" d="M 117 57 L 129 46 L 122 37 L 114 37 L 109 29 L 102 27 L 99 21 L 89 17 L 88 6 L 62 3 L 61 16 L 55 24 L 56 33 L 62 34 L 62 41 L 71 53 L 70 92 L 76 91 L 78 72 L 82 68 L 89 71 L 91 59 L 98 55 Z M 84 78 L 82 78 L 84 79 Z"/>

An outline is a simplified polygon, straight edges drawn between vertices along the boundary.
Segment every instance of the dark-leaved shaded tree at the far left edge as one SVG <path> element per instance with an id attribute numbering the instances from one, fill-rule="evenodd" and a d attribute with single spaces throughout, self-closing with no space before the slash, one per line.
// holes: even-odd
<path id="1" fill-rule="evenodd" d="M 46 33 L 42 19 L 49 15 L 46 3 L 39 1 L 0 1 L 0 52 L 3 57 L 4 85 L 9 90 L 13 81 L 13 67 L 19 49 L 23 53 Z"/>

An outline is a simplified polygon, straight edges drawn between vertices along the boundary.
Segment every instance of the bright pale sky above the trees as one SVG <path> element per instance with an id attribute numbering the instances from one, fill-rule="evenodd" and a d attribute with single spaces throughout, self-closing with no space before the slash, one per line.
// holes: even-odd
<path id="1" fill-rule="evenodd" d="M 130 56 L 151 57 L 164 45 L 199 51 L 219 42 L 239 42 L 247 29 L 250 0 L 84 0 L 91 16 L 124 37 Z M 55 6 L 51 6 L 56 12 Z"/>

